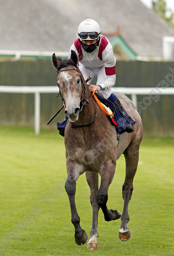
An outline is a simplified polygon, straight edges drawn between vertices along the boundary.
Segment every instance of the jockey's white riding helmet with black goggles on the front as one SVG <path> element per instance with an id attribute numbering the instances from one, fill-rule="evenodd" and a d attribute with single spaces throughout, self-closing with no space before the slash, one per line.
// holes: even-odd
<path id="1" fill-rule="evenodd" d="M 96 40 L 100 35 L 100 26 L 95 20 L 84 20 L 78 26 L 78 38 L 80 40 Z"/>

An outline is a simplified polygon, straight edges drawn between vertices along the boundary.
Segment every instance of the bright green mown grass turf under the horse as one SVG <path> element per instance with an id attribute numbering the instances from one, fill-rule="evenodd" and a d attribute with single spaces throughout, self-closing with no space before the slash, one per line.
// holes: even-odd
<path id="1" fill-rule="evenodd" d="M 36 136 L 32 128 L 0 126 L 0 156 L 1 255 L 174 255 L 174 138 L 143 138 L 129 203 L 131 238 L 121 242 L 118 239 L 120 219 L 106 222 L 100 209 L 99 250 L 96 251 L 87 250 L 87 244 L 75 244 L 69 200 L 64 187 L 60 188 L 63 191 L 58 197 L 49 194 L 49 190 L 51 192 L 61 185 L 60 182 L 64 183 L 66 177 L 64 138 L 57 131 L 41 130 Z M 117 161 L 108 192 L 109 209 L 123 211 L 124 176 L 122 155 Z M 43 195 L 45 199 L 52 197 L 53 201 L 43 201 Z M 76 206 L 81 227 L 88 236 L 92 223 L 89 196 L 90 190 L 85 175 L 82 175 L 76 186 Z M 38 215 L 33 214 L 35 219 L 26 212 L 34 210 L 33 205 L 39 205 L 40 210 Z M 23 220 L 28 224 L 25 224 L 26 229 L 19 225 L 19 222 L 24 224 Z M 21 233 L 15 229 L 18 225 Z M 11 241 L 6 237 L 9 233 L 14 235 L 10 236 Z M 11 243 L 10 247 L 5 241 Z"/>

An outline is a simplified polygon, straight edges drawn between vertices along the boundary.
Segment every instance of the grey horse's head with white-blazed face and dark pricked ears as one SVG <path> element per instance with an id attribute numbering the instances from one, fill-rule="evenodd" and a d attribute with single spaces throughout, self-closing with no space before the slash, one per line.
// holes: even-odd
<path id="1" fill-rule="evenodd" d="M 52 55 L 53 66 L 57 69 L 57 85 L 65 106 L 65 115 L 71 123 L 78 121 L 80 103 L 84 96 L 84 80 L 78 69 L 78 56 L 71 51 L 71 59 L 62 60 Z"/>

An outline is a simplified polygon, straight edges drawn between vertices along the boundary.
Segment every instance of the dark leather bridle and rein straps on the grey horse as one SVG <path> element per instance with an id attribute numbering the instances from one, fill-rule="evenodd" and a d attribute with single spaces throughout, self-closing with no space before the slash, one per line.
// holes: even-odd
<path id="1" fill-rule="evenodd" d="M 82 111 L 83 106 L 86 105 L 86 104 L 89 104 L 89 99 L 90 99 L 91 97 L 94 99 L 94 96 L 93 96 L 93 94 L 92 94 L 92 95 L 89 97 L 89 99 L 84 99 L 84 94 L 86 94 L 86 91 L 85 91 L 85 84 L 84 84 L 84 82 L 83 82 L 83 78 L 82 78 L 82 76 L 81 76 L 81 73 L 80 73 L 77 69 L 69 68 L 69 69 L 61 69 L 61 70 L 59 70 L 59 71 L 58 71 L 58 74 L 59 74 L 60 72 L 62 72 L 62 71 L 66 71 L 66 70 L 76 70 L 76 71 L 80 74 L 80 82 L 81 82 L 81 85 L 82 85 L 82 95 L 81 95 L 81 98 L 80 98 L 80 104 L 82 105 L 82 107 L 81 107 L 80 111 Z M 58 85 L 58 87 L 59 87 L 59 84 L 57 84 L 57 85 Z M 64 108 L 66 108 L 65 101 L 64 101 L 64 99 L 63 99 L 63 97 L 62 97 L 62 95 L 61 95 L 60 87 L 59 87 L 59 94 L 60 94 L 60 96 L 61 96 L 61 100 L 62 100 L 62 102 L 63 102 Z M 58 95 L 59 95 L 59 94 L 58 94 Z M 58 97 L 58 95 L 57 95 L 57 97 Z M 94 99 L 94 102 L 95 102 L 95 99 Z M 95 104 L 96 104 L 96 102 L 95 102 Z M 94 116 L 94 119 L 92 120 L 92 122 L 87 123 L 87 124 L 82 124 L 82 125 L 71 124 L 71 128 L 74 128 L 74 127 L 82 127 L 82 126 L 90 125 L 90 124 L 94 123 L 94 121 L 96 120 L 96 118 L 97 118 L 97 115 L 96 115 L 96 111 L 95 111 L 95 116 Z"/>

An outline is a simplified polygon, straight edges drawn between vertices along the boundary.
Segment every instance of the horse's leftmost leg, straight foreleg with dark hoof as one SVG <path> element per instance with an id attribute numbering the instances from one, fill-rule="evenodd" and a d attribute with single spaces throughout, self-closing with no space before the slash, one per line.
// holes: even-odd
<path id="1" fill-rule="evenodd" d="M 70 160 L 69 162 L 71 162 Z M 68 162 L 68 161 L 67 161 Z M 80 176 L 80 168 L 70 168 L 71 165 L 67 163 L 67 174 L 68 174 L 68 186 L 65 186 L 65 190 L 69 197 L 70 207 L 71 207 L 71 222 L 75 227 L 75 242 L 78 245 L 85 244 L 88 240 L 88 236 L 80 226 L 80 217 L 78 216 L 76 205 L 75 205 L 75 191 L 76 191 L 76 180 Z M 73 170 L 73 171 L 69 171 Z M 72 176 L 74 174 L 74 176 Z M 75 177 L 73 179 L 73 177 Z"/>

